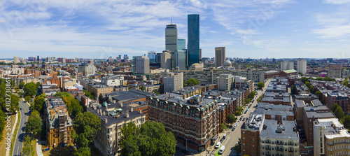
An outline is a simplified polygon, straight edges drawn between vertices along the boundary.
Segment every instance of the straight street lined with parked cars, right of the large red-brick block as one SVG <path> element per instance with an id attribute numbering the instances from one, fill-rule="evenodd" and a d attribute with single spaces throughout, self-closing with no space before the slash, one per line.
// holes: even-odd
<path id="1" fill-rule="evenodd" d="M 260 97 L 265 90 L 267 89 L 267 86 L 269 85 L 269 83 L 271 82 L 271 79 L 267 80 L 267 82 L 265 83 L 265 87 L 262 89 L 262 91 L 258 92 L 258 95 L 256 96 L 256 99 L 258 99 L 258 97 Z M 246 114 L 243 114 L 242 116 L 244 118 L 248 118 L 249 114 L 255 110 L 256 104 L 258 104 L 258 102 L 256 101 L 256 99 L 254 100 L 254 102 L 252 103 L 251 108 L 249 108 L 248 112 Z M 248 107 L 246 107 L 248 108 Z M 244 111 L 246 111 L 246 108 L 244 108 Z M 240 117 L 239 117 L 240 118 Z M 238 120 L 239 120 L 238 118 Z M 238 122 L 237 120 L 237 122 Z M 238 139 L 241 138 L 241 125 L 243 124 L 243 121 L 239 122 L 239 125 L 237 126 L 237 128 L 235 129 L 235 131 L 231 131 L 228 132 L 228 138 L 226 138 L 223 141 L 223 145 L 225 146 L 225 152 L 223 153 L 223 155 L 227 156 L 227 155 L 234 155 L 233 153 L 233 147 L 236 145 L 236 143 L 238 142 Z M 214 154 L 216 152 L 216 150 L 214 150 L 213 153 Z"/>

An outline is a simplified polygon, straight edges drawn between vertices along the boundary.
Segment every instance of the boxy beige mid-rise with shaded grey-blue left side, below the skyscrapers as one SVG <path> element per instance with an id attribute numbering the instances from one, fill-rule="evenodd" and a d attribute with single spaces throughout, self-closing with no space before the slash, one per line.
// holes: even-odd
<path id="1" fill-rule="evenodd" d="M 183 73 L 162 72 L 164 92 L 172 92 L 183 88 Z"/>

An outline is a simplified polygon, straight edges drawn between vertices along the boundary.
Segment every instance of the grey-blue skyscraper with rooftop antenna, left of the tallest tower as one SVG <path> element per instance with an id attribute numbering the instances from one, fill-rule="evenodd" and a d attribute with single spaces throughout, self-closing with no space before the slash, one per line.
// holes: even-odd
<path id="1" fill-rule="evenodd" d="M 177 50 L 177 27 L 176 24 L 167 24 L 165 28 L 165 50 L 174 52 Z"/>

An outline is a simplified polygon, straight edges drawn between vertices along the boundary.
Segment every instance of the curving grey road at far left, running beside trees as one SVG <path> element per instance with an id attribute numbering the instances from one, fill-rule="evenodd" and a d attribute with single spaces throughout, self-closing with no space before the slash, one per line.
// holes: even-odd
<path id="1" fill-rule="evenodd" d="M 25 104 L 25 102 L 23 102 L 21 98 L 20 98 L 20 113 L 21 113 L 21 118 L 18 120 L 18 122 L 20 122 L 20 126 L 18 127 L 18 132 L 17 132 L 15 145 L 13 146 L 14 148 L 12 153 L 12 155 L 15 155 L 15 156 L 22 155 L 22 147 L 23 147 L 23 143 L 25 142 L 24 141 L 25 125 L 30 115 L 29 106 Z"/>

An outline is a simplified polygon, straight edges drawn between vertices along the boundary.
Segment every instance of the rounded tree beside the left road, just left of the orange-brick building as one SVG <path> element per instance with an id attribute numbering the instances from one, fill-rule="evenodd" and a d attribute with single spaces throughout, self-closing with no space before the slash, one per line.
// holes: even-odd
<path id="1" fill-rule="evenodd" d="M 36 111 L 36 110 L 34 110 Z M 26 131 L 29 133 L 33 133 L 33 136 L 40 136 L 41 128 L 43 127 L 43 122 L 41 122 L 40 116 L 36 116 L 38 113 L 34 113 L 34 115 L 30 115 L 26 124 Z"/>

